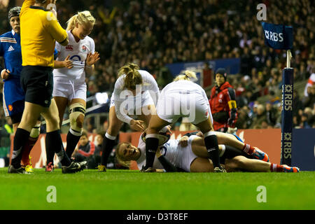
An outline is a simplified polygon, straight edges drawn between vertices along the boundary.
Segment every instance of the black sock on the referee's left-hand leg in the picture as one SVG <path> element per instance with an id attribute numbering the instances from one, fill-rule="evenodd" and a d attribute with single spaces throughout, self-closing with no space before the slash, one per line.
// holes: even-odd
<path id="1" fill-rule="evenodd" d="M 22 128 L 18 128 L 15 132 L 14 140 L 13 140 L 13 153 L 12 153 L 12 160 L 11 165 L 15 169 L 19 169 L 21 167 L 21 159 L 23 154 L 23 146 L 27 144 L 29 139 L 30 132 L 24 130 Z"/>

